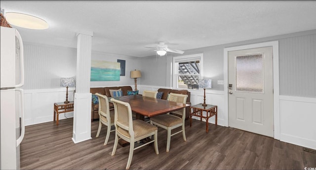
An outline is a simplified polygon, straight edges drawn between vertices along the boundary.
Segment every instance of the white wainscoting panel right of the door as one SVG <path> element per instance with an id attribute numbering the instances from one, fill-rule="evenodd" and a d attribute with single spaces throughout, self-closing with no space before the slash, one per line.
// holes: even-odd
<path id="1" fill-rule="evenodd" d="M 280 140 L 316 149 L 316 98 L 280 96 Z"/>

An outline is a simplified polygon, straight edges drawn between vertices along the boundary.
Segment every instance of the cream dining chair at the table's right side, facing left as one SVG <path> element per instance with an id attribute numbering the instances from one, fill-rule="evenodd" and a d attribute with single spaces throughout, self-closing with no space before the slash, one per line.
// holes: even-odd
<path id="1" fill-rule="evenodd" d="M 187 98 L 188 98 L 188 95 L 170 93 L 168 101 L 186 103 Z M 169 152 L 169 150 L 170 150 L 171 136 L 174 136 L 174 135 L 182 132 L 183 140 L 184 141 L 187 140 L 186 133 L 185 133 L 185 123 L 184 123 L 185 118 L 186 118 L 186 108 L 182 108 L 180 110 L 173 111 L 172 113 L 177 114 L 179 116 L 167 113 L 167 114 L 153 116 L 150 119 L 151 124 L 167 130 L 166 152 Z M 171 130 L 178 128 L 180 126 L 182 126 L 181 131 L 178 131 L 174 134 L 171 134 Z"/>

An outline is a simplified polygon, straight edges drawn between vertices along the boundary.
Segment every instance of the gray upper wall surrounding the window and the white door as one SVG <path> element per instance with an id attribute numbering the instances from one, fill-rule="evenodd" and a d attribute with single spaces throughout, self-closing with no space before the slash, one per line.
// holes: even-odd
<path id="1" fill-rule="evenodd" d="M 217 80 L 224 79 L 224 48 L 274 40 L 279 41 L 280 95 L 316 98 L 316 30 L 191 49 L 183 55 L 203 53 L 204 77 L 212 79 L 212 90 L 223 91 L 224 85 L 218 85 Z M 175 56 L 180 55 L 168 53 L 167 59 L 158 56 L 157 62 L 156 56 L 141 60 L 142 72 L 150 77 L 143 80 L 142 85 L 171 87 L 170 66 Z M 161 61 L 167 63 L 164 65 Z"/>

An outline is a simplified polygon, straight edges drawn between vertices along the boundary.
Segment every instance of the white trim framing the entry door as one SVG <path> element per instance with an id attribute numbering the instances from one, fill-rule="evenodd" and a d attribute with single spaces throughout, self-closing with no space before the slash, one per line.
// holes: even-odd
<path id="1" fill-rule="evenodd" d="M 257 44 L 242 45 L 224 48 L 224 120 L 228 125 L 228 52 L 251 48 L 273 47 L 273 111 L 274 111 L 274 138 L 280 139 L 280 112 L 279 112 L 279 67 L 278 67 L 278 41 L 263 42 Z"/>

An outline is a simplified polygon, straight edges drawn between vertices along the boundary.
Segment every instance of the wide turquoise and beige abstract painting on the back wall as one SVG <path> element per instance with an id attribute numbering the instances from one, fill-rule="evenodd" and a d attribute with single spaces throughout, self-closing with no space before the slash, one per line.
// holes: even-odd
<path id="1" fill-rule="evenodd" d="M 120 63 L 91 60 L 90 81 L 119 81 Z"/>

